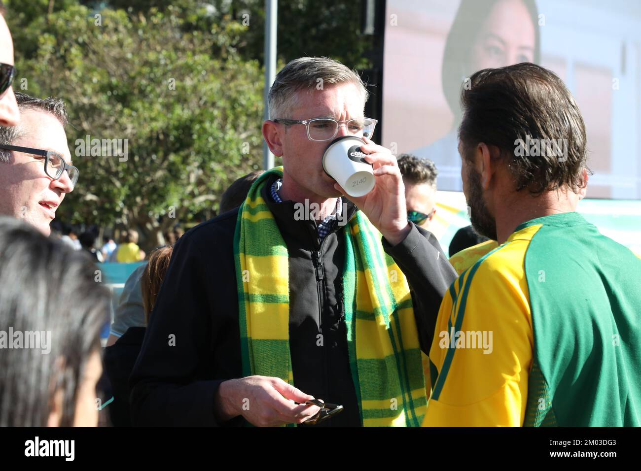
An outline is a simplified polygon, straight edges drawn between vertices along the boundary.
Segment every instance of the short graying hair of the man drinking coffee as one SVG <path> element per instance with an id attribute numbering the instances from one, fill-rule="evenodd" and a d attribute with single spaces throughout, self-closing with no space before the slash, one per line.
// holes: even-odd
<path id="1" fill-rule="evenodd" d="M 328 85 L 353 83 L 367 102 L 367 88 L 354 70 L 328 57 L 300 57 L 278 72 L 269 89 L 269 119 L 288 119 L 296 104 L 296 92 L 323 90 Z M 312 117 L 310 117 L 312 118 Z"/>

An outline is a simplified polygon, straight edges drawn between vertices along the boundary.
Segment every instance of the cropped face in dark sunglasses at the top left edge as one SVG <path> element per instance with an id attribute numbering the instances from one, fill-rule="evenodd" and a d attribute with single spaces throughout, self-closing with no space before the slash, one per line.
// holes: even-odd
<path id="1" fill-rule="evenodd" d="M 12 88 L 15 78 L 13 40 L 3 15 L 4 6 L 0 1 L 0 126 L 8 128 L 18 124 L 20 112 Z"/>

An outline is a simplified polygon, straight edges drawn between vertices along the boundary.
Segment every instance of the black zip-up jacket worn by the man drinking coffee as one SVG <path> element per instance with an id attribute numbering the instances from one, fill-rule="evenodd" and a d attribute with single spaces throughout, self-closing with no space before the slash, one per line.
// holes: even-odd
<path id="1" fill-rule="evenodd" d="M 319 426 L 360 426 L 342 304 L 346 226 L 335 223 L 321 242 L 315 221 L 294 219 L 294 202 L 272 199 L 269 188 L 275 179 L 265 185 L 262 196 L 289 252 L 294 386 L 344 406 Z M 349 220 L 357 208 L 343 201 Z M 199 224 L 174 247 L 131 374 L 135 426 L 244 424 L 240 416 L 219 422 L 213 404 L 222 381 L 242 377 L 233 259 L 237 215 L 238 208 Z M 416 226 L 400 244 L 390 247 L 383 239 L 383 246 L 413 289 L 420 346 L 427 353 L 440 302 L 456 272 L 436 238 Z"/>

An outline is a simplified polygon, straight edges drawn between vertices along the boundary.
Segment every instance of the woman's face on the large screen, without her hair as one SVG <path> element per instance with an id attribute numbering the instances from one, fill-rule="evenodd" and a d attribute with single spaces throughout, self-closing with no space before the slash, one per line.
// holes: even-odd
<path id="1" fill-rule="evenodd" d="M 497 1 L 472 47 L 470 73 L 534 62 L 535 28 L 521 0 Z"/>

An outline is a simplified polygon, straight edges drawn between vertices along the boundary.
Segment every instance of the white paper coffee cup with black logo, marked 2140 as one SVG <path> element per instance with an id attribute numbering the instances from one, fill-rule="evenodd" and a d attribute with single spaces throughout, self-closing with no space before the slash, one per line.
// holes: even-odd
<path id="1" fill-rule="evenodd" d="M 360 197 L 374 188 L 374 169 L 363 160 L 360 146 L 367 144 L 360 137 L 340 136 L 329 143 L 322 156 L 322 168 L 335 179 L 348 195 Z"/>

